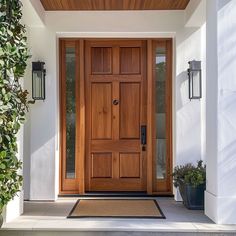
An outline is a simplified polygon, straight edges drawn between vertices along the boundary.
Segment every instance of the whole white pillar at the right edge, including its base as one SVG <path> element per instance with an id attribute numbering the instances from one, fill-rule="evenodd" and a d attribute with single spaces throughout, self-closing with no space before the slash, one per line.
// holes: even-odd
<path id="1" fill-rule="evenodd" d="M 207 0 L 205 214 L 236 224 L 236 1 Z"/>

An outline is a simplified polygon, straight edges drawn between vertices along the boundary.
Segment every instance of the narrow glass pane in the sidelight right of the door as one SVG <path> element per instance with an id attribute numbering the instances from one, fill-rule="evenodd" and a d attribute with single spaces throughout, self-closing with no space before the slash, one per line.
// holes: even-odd
<path id="1" fill-rule="evenodd" d="M 166 50 L 156 48 L 156 178 L 166 178 Z"/>

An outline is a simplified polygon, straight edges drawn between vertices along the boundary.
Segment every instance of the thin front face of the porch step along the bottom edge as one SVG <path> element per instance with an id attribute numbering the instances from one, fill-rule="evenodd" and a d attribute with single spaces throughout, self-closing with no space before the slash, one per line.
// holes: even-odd
<path id="1" fill-rule="evenodd" d="M 0 236 L 226 236 L 236 235 L 236 231 L 221 232 L 151 232 L 151 231 L 48 231 L 48 230 L 0 230 Z"/>

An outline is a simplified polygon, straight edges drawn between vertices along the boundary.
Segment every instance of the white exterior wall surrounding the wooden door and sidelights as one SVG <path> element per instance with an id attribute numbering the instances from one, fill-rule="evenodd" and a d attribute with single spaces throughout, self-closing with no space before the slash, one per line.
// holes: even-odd
<path id="1" fill-rule="evenodd" d="M 27 198 L 55 200 L 58 194 L 58 37 L 175 38 L 174 163 L 196 162 L 204 156 L 201 145 L 201 110 L 204 102 L 188 100 L 186 82 L 188 60 L 203 58 L 200 48 L 204 45 L 201 44 L 204 28 L 184 29 L 184 19 L 183 11 L 48 12 L 45 14 L 44 27 L 29 26 L 32 60 L 45 61 L 47 76 L 46 100 L 36 102 L 31 107 L 26 125 L 26 135 L 30 137 L 28 149 L 25 147 L 24 150 L 25 166 L 30 168 L 24 174 L 26 178 L 30 176 L 30 181 L 25 182 L 24 186 Z M 198 40 L 200 43 L 197 43 Z M 195 50 L 189 52 L 190 48 Z M 31 81 L 26 87 L 31 89 Z M 195 135 L 189 133 L 193 130 Z"/>

